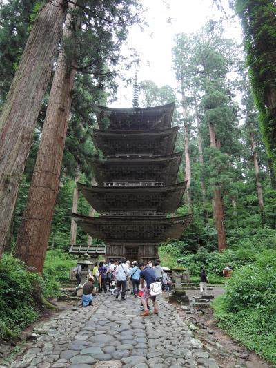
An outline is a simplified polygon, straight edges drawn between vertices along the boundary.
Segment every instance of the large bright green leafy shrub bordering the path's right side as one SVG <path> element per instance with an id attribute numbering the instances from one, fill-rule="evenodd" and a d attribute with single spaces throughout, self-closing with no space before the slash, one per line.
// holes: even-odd
<path id="1" fill-rule="evenodd" d="M 215 318 L 236 340 L 276 364 L 276 251 L 233 273 L 213 302 Z"/>

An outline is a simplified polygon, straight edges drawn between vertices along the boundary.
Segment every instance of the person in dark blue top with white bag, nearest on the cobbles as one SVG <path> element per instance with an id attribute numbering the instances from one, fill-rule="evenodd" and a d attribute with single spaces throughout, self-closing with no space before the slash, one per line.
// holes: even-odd
<path id="1" fill-rule="evenodd" d="M 158 314 L 156 296 L 150 295 L 150 285 L 152 282 L 156 282 L 155 271 L 150 267 L 145 267 L 144 263 L 139 264 L 140 281 L 143 288 L 143 294 L 141 296 L 141 302 L 144 307 L 144 313 L 142 316 L 148 316 L 150 312 L 148 311 L 148 299 L 150 298 L 153 304 L 153 313 Z M 146 284 L 145 284 L 146 282 Z"/>

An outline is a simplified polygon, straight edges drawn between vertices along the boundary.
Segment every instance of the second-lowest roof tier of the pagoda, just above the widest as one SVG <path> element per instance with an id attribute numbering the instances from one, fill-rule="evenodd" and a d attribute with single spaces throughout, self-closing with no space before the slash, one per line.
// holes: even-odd
<path id="1" fill-rule="evenodd" d="M 157 211 L 173 213 L 181 202 L 186 182 L 168 186 L 86 186 L 77 183 L 97 212 Z"/>

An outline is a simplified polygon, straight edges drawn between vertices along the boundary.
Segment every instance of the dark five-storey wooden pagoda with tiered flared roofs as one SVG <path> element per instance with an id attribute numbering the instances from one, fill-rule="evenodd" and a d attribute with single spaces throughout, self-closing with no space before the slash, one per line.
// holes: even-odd
<path id="1" fill-rule="evenodd" d="M 92 135 L 98 155 L 91 164 L 97 186 L 78 184 L 101 214 L 73 219 L 106 244 L 106 258 L 158 258 L 158 244 L 178 239 L 191 215 L 169 217 L 181 202 L 186 182 L 176 184 L 182 153 L 174 153 L 178 127 L 175 104 L 152 108 L 100 106 Z"/>

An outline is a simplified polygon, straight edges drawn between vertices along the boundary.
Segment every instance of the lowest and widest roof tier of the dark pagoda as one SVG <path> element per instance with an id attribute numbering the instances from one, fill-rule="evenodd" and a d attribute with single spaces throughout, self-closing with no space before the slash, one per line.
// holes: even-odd
<path id="1" fill-rule="evenodd" d="M 183 217 L 88 217 L 72 214 L 72 219 L 92 238 L 107 243 L 160 243 L 179 239 L 193 215 Z"/>

